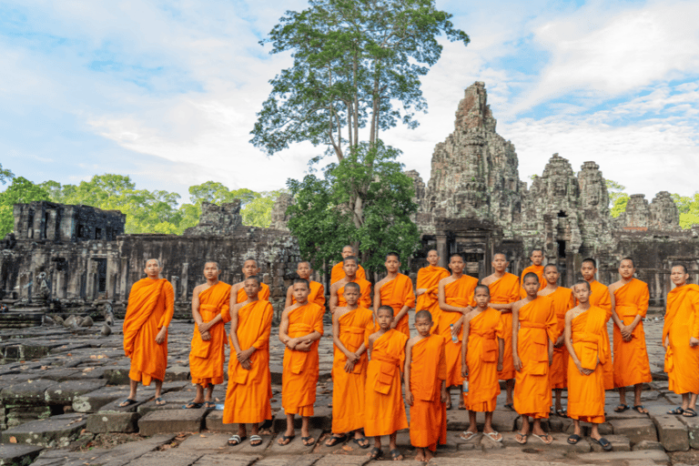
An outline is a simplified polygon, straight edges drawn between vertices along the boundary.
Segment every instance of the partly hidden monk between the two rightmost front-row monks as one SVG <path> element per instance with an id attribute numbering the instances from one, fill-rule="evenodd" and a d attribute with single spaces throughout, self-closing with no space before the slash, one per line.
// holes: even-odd
<path id="1" fill-rule="evenodd" d="M 553 360 L 549 368 L 551 388 L 555 393 L 554 410 L 562 418 L 565 410 L 561 403 L 563 389 L 568 387 L 568 349 L 565 347 L 565 313 L 575 307 L 575 298 L 572 290 L 558 286 L 561 274 L 555 264 L 547 264 L 543 268 L 543 277 L 546 279 L 546 288 L 537 293 L 553 301 L 553 311 L 556 313 L 556 339 L 553 343 Z"/>

